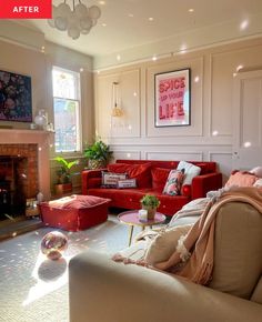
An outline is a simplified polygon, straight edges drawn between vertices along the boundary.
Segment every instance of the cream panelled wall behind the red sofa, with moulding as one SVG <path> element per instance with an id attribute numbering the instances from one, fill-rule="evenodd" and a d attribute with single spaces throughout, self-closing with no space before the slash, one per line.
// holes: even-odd
<path id="1" fill-rule="evenodd" d="M 185 68 L 191 69 L 191 125 L 155 128 L 154 74 Z M 99 71 L 95 132 L 115 159 L 216 161 L 226 180 L 233 167 L 234 78 L 260 69 L 262 39 Z M 122 118 L 111 117 L 113 82 L 119 82 Z"/>

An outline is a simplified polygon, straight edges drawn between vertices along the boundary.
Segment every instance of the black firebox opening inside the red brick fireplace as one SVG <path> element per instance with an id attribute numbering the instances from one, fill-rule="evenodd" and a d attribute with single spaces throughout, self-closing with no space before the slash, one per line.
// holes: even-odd
<path id="1" fill-rule="evenodd" d="M 28 158 L 0 155 L 0 220 L 24 215 Z"/>

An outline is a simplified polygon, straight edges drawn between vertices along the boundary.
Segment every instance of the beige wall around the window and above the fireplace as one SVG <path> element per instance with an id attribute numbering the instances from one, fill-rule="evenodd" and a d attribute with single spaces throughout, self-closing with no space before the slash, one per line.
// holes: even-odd
<path id="1" fill-rule="evenodd" d="M 24 38 L 28 32 L 27 29 L 21 27 L 24 31 Z M 28 36 L 31 39 L 31 31 Z M 38 41 L 37 41 L 38 39 Z M 34 44 L 34 46 L 33 46 Z M 40 32 L 36 34 L 34 43 L 14 43 L 13 41 L 0 40 L 0 70 L 10 71 L 31 77 L 32 88 L 32 114 L 38 113 L 39 110 L 44 109 L 48 112 L 49 122 L 53 123 L 53 109 L 52 109 L 52 66 L 58 66 L 64 69 L 70 69 L 80 72 L 81 76 L 81 103 L 82 103 L 82 142 L 91 142 L 94 132 L 94 114 L 93 114 L 93 74 L 92 74 L 92 58 L 79 52 L 69 50 L 67 48 L 44 42 L 43 34 Z M 30 130 L 28 122 L 8 122 L 0 121 L 0 128 L 11 129 L 27 129 Z M 33 135 L 33 131 L 31 133 Z M 54 155 L 54 135 L 50 134 L 47 141 L 50 149 L 50 181 L 51 189 L 56 179 L 56 170 L 58 163 L 53 161 Z M 64 155 L 66 158 L 82 160 L 82 153 L 71 153 Z M 79 174 L 73 178 L 74 187 L 81 185 L 80 170 Z"/>

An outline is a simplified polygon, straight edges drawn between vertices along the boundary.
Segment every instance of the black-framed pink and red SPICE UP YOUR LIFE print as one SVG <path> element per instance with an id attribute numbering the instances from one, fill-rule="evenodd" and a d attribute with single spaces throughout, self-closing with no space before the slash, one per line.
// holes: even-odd
<path id="1" fill-rule="evenodd" d="M 154 127 L 191 125 L 191 69 L 154 74 Z"/>

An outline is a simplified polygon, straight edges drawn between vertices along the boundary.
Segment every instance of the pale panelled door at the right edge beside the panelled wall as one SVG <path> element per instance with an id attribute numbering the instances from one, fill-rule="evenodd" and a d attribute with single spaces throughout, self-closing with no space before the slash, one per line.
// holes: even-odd
<path id="1" fill-rule="evenodd" d="M 262 70 L 239 73 L 233 89 L 233 169 L 262 165 Z"/>

